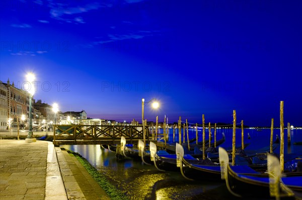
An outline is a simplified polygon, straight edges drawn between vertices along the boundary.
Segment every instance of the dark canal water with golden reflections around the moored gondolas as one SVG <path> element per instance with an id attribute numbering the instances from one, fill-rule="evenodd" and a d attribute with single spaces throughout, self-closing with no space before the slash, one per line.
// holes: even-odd
<path id="1" fill-rule="evenodd" d="M 302 141 L 302 129 L 291 130 L 291 145 L 287 146 L 287 130 L 285 132 L 284 153 L 302 152 L 302 145 L 293 142 Z M 211 131 L 214 135 L 214 131 Z M 217 140 L 225 134 L 222 147 L 232 146 L 232 129 L 217 129 Z M 250 139 L 248 139 L 248 133 Z M 259 149 L 268 146 L 270 129 L 244 129 L 245 143 L 250 143 L 247 149 Z M 196 136 L 195 129 L 189 130 L 189 138 Z M 208 129 L 206 129 L 208 138 Z M 236 144 L 241 144 L 241 129 L 236 131 Z M 280 129 L 274 129 L 280 138 Z M 202 129 L 198 130 L 202 138 Z M 169 131 L 169 140 L 173 140 L 173 130 Z M 178 141 L 176 131 L 175 140 Z M 62 145 L 62 147 L 78 152 L 96 167 L 107 179 L 120 189 L 129 199 L 239 199 L 225 187 L 224 182 L 202 182 L 185 179 L 180 172 L 159 171 L 154 165 L 145 165 L 140 160 L 126 159 L 118 161 L 115 153 L 103 149 L 100 145 Z"/>

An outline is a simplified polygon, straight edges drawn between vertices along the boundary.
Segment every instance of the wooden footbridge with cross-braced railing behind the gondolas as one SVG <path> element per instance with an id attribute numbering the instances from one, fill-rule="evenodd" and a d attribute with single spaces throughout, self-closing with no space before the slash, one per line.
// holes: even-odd
<path id="1" fill-rule="evenodd" d="M 145 128 L 145 140 L 151 138 Z M 127 143 L 143 139 L 143 126 L 132 125 L 53 125 L 53 144 L 120 144 L 121 136 Z"/>

